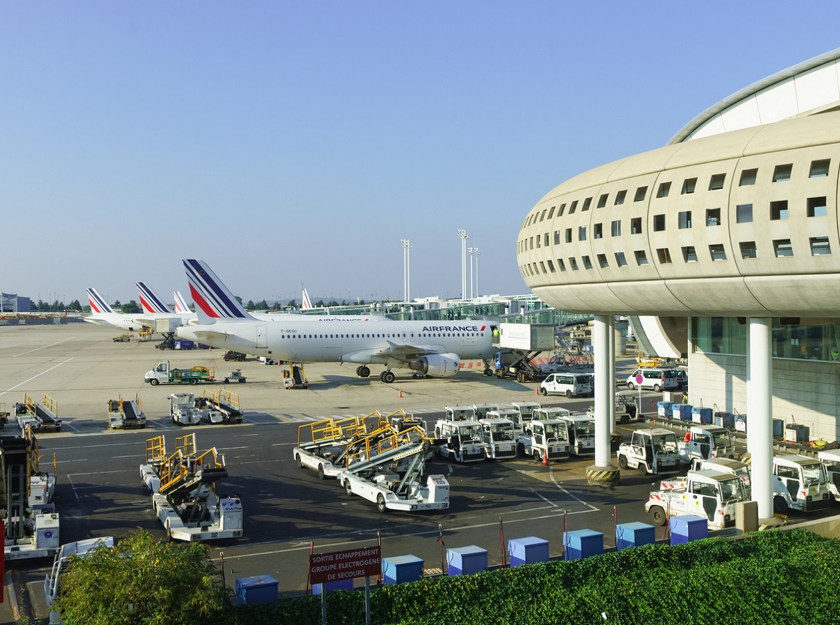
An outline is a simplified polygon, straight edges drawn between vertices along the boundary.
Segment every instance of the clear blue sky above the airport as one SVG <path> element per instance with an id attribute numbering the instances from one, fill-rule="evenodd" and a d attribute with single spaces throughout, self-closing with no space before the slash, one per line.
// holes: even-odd
<path id="1" fill-rule="evenodd" d="M 527 293 L 540 197 L 840 46 L 840 4 L 0 1 L 0 291 Z M 477 274 L 477 276 L 476 276 Z"/>

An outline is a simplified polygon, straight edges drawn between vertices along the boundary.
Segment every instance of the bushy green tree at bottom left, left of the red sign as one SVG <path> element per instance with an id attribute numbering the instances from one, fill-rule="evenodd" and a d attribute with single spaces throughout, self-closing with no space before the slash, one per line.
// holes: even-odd
<path id="1" fill-rule="evenodd" d="M 157 541 L 144 529 L 71 556 L 55 607 L 67 625 L 209 624 L 231 610 L 207 545 Z"/>

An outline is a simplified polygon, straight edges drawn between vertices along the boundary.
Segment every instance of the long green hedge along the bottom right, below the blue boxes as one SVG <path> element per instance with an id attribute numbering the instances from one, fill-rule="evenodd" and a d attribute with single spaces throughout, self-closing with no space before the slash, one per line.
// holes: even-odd
<path id="1" fill-rule="evenodd" d="M 646 545 L 370 593 L 374 625 L 708 623 L 840 619 L 840 542 L 806 530 Z M 328 623 L 364 621 L 362 591 L 328 595 Z M 234 625 L 321 622 L 321 597 L 240 606 Z"/>

